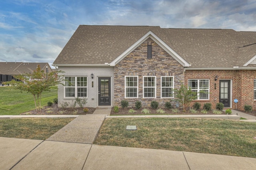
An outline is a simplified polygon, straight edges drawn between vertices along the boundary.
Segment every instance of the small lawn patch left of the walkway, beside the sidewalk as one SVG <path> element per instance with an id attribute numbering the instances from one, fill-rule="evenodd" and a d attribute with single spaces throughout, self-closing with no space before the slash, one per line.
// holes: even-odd
<path id="1" fill-rule="evenodd" d="M 45 140 L 73 119 L 0 119 L 0 136 Z"/>

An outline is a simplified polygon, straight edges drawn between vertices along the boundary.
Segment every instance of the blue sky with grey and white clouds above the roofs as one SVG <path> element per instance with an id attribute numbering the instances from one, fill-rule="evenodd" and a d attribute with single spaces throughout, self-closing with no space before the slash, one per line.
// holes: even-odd
<path id="1" fill-rule="evenodd" d="M 256 0 L 1 0 L 0 61 L 52 65 L 79 25 L 256 32 Z"/>

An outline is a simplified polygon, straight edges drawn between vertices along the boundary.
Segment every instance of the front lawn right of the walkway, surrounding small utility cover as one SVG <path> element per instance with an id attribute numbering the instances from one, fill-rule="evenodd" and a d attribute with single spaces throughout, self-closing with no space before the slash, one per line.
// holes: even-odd
<path id="1" fill-rule="evenodd" d="M 125 130 L 136 125 L 138 130 Z M 256 158 L 256 124 L 215 119 L 106 119 L 94 144 Z"/>

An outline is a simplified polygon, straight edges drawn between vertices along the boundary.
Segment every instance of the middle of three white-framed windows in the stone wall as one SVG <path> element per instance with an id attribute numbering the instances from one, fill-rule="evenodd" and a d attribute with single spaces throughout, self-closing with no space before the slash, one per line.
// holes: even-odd
<path id="1" fill-rule="evenodd" d="M 156 98 L 156 77 L 143 77 L 143 98 Z"/>

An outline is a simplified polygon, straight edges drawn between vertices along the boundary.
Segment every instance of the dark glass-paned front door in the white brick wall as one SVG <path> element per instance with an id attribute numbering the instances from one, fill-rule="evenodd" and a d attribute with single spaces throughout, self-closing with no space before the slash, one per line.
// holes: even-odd
<path id="1" fill-rule="evenodd" d="M 99 106 L 111 105 L 111 79 L 110 77 L 98 77 Z"/>

